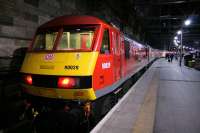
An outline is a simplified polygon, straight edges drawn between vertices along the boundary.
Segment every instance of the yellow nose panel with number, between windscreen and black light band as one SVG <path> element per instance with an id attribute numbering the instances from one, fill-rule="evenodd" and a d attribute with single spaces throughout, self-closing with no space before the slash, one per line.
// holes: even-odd
<path id="1" fill-rule="evenodd" d="M 94 72 L 97 52 L 28 53 L 22 73 L 60 76 L 89 76 Z"/>

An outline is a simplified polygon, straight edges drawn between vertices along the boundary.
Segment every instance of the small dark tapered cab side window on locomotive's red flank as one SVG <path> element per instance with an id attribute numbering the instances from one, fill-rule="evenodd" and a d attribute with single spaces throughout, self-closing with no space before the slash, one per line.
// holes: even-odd
<path id="1" fill-rule="evenodd" d="M 109 40 L 109 32 L 108 29 L 104 30 L 103 39 L 101 44 L 101 54 L 109 54 L 110 53 L 110 40 Z"/>

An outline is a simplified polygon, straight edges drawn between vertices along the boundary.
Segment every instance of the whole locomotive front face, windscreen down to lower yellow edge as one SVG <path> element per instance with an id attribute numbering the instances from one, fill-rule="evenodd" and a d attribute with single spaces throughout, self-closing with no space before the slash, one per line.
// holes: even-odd
<path id="1" fill-rule="evenodd" d="M 23 62 L 23 91 L 32 96 L 94 100 L 96 27 L 39 29 Z"/>

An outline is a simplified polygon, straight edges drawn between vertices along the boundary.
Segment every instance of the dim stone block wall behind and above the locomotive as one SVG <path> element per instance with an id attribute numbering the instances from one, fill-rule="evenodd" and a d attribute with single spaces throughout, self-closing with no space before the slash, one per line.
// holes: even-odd
<path id="1" fill-rule="evenodd" d="M 36 28 L 57 16 L 89 14 L 113 20 L 123 13 L 122 3 L 114 2 L 117 9 L 106 0 L 0 0 L 0 57 L 12 57 L 15 49 L 27 47 Z"/>

